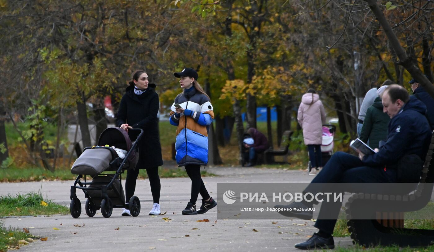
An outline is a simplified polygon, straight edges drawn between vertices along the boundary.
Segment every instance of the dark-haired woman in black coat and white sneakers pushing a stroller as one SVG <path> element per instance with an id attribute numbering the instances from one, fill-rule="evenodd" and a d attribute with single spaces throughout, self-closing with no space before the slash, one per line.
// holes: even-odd
<path id="1" fill-rule="evenodd" d="M 116 115 L 116 126 L 126 131 L 130 128 L 142 129 L 143 136 L 138 143 L 139 160 L 134 170 L 128 170 L 125 181 L 125 201 L 128 203 L 134 195 L 139 169 L 146 169 L 151 185 L 154 206 L 149 215 L 159 215 L 160 210 L 160 177 L 158 167 L 163 165 L 161 158 L 160 137 L 158 136 L 158 94 L 155 84 L 149 84 L 148 74 L 138 70 L 133 74 L 130 86 L 122 96 L 119 111 Z M 124 209 L 122 216 L 130 216 Z"/>

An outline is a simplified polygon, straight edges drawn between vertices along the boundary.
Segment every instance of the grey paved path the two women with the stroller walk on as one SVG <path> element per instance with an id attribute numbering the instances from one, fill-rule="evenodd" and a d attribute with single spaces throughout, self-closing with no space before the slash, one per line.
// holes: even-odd
<path id="1" fill-rule="evenodd" d="M 309 183 L 312 176 L 301 171 L 266 168 L 207 168 L 221 177 L 206 177 L 204 183 L 211 196 L 216 196 L 217 183 Z M 0 194 L 38 191 L 56 203 L 69 206 L 69 188 L 73 181 L 44 181 L 24 183 L 0 183 Z M 20 251 L 299 251 L 294 244 L 305 241 L 313 232 L 312 221 L 294 220 L 215 220 L 217 209 L 196 216 L 181 215 L 190 198 L 188 178 L 161 179 L 161 209 L 167 214 L 151 217 L 151 190 L 148 180 L 139 180 L 135 195 L 141 200 L 138 217 L 122 217 L 120 209 L 113 209 L 110 218 L 100 211 L 93 218 L 85 216 L 85 198 L 82 215 L 73 219 L 70 215 L 49 217 L 19 217 L 0 219 L 5 226 L 30 228 L 36 236 L 48 237 L 45 242 L 36 241 L 23 246 Z M 200 198 L 200 196 L 199 196 Z M 199 200 L 200 201 L 200 200 Z M 169 217 L 171 222 L 162 218 Z M 209 219 L 210 222 L 196 222 Z M 276 222 L 277 224 L 272 224 Z M 62 224 L 62 225 L 60 225 Z M 80 226 L 74 226 L 79 224 Z M 83 226 L 84 224 L 84 226 Z M 305 225 L 306 224 L 306 225 Z M 53 228 L 58 228 L 55 230 Z M 118 230 L 115 230 L 119 228 Z M 259 232 L 253 232 L 253 229 Z M 279 233 L 281 232 L 281 233 Z M 76 233 L 76 234 L 74 234 Z M 186 237 L 188 236 L 188 237 Z M 350 238 L 337 238 L 341 247 L 351 247 Z"/>

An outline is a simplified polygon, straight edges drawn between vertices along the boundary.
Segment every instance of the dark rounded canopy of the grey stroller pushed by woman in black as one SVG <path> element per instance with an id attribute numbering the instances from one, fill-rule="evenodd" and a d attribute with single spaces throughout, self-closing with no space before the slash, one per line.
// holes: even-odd
<path id="1" fill-rule="evenodd" d="M 115 148 L 128 152 L 131 150 L 133 145 L 127 131 L 114 127 L 106 128 L 99 136 L 98 146 L 105 146 L 106 144 L 108 144 L 110 147 L 115 146 Z M 134 161 L 135 154 L 135 151 L 132 151 L 132 153 L 128 156 L 128 160 Z"/>

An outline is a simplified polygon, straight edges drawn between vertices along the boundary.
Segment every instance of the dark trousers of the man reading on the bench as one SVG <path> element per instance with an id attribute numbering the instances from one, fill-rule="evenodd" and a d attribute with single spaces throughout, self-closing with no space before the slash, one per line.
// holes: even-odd
<path id="1" fill-rule="evenodd" d="M 312 183 L 396 183 L 396 170 L 384 169 L 384 167 L 366 167 L 363 162 L 351 154 L 336 152 L 322 171 L 316 175 Z M 313 189 L 315 186 L 309 185 L 303 193 L 317 193 Z M 335 229 L 336 220 L 339 216 L 342 202 L 322 202 L 319 216 L 315 227 L 322 232 L 329 234 Z M 335 214 L 335 219 L 322 219 L 324 213 Z"/>

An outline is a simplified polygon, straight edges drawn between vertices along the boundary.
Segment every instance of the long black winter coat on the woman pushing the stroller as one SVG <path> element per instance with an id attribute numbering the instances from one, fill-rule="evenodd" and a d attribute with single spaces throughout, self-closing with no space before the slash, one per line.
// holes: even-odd
<path id="1" fill-rule="evenodd" d="M 116 115 L 117 127 L 128 123 L 132 128 L 140 128 L 144 131 L 138 143 L 139 160 L 136 167 L 139 169 L 163 165 L 158 134 L 159 101 L 154 89 L 155 84 L 149 84 L 145 93 L 136 95 L 133 86 L 126 88 Z"/>

